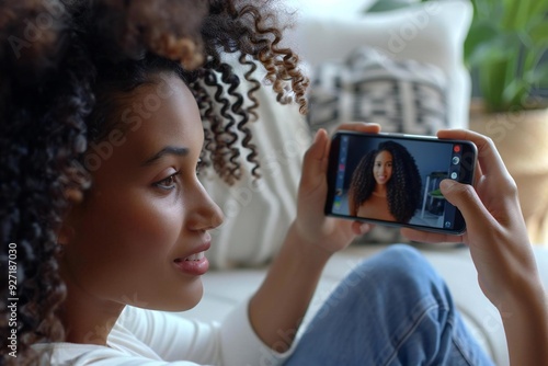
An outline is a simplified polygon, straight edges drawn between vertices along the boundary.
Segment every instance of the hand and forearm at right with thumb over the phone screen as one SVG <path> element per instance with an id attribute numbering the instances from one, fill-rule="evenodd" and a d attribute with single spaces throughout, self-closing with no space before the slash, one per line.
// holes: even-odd
<path id="1" fill-rule="evenodd" d="M 548 302 L 520 208 L 514 180 L 493 142 L 472 131 L 443 130 L 439 138 L 476 144 L 475 188 L 445 180 L 441 190 L 465 217 L 467 232 L 452 237 L 403 229 L 409 239 L 465 242 L 481 289 L 501 314 L 512 365 L 548 363 Z"/>

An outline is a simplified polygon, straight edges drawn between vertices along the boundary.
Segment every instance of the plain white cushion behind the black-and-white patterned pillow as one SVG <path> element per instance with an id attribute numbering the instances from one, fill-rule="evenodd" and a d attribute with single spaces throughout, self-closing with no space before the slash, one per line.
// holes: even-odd
<path id="1" fill-rule="evenodd" d="M 416 60 L 442 69 L 449 82 L 449 126 L 467 127 L 470 76 L 463 45 L 472 8 L 466 0 L 427 1 L 362 16 L 300 13 L 288 44 L 313 69 L 327 60 L 344 59 L 353 49 L 370 46 L 396 60 Z"/>

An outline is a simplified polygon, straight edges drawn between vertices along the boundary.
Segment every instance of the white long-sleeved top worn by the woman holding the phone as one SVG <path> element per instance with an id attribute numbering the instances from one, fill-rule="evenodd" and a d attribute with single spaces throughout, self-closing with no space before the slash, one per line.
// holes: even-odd
<path id="1" fill-rule="evenodd" d="M 33 347 L 53 347 L 53 353 L 43 355 L 41 365 L 54 366 L 279 365 L 293 350 L 279 354 L 261 342 L 251 329 L 247 302 L 222 323 L 127 306 L 109 334 L 107 346 L 65 342 Z"/>

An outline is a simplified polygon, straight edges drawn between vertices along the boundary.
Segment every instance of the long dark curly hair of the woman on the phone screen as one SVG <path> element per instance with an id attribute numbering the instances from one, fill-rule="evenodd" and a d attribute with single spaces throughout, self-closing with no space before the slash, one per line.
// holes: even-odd
<path id="1" fill-rule="evenodd" d="M 397 221 L 408 222 L 421 199 L 422 180 L 414 158 L 395 141 L 380 142 L 376 150 L 359 160 L 350 184 L 351 215 L 356 216 L 358 207 L 373 194 L 376 185 L 373 165 L 381 151 L 392 156 L 392 178 L 387 182 L 388 209 Z"/>

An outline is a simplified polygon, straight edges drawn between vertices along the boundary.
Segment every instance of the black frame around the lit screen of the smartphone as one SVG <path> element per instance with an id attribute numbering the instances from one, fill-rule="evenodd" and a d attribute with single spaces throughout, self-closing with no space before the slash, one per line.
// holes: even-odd
<path id="1" fill-rule="evenodd" d="M 418 140 L 418 141 L 426 141 L 426 142 L 444 142 L 444 144 L 459 144 L 463 145 L 463 156 L 466 156 L 470 161 L 466 164 L 461 163 L 459 170 L 459 179 L 458 182 L 465 184 L 473 184 L 475 171 L 477 165 L 477 156 L 478 149 L 476 145 L 471 141 L 467 140 L 456 140 L 456 139 L 438 139 L 435 136 L 420 136 L 420 135 L 408 135 L 408 134 L 391 134 L 391 133 L 379 133 L 379 134 L 365 134 L 358 131 L 350 131 L 350 130 L 339 130 L 334 134 L 331 139 L 330 145 L 330 153 L 328 161 L 328 171 L 327 171 L 327 180 L 328 180 L 328 195 L 324 205 L 324 214 L 327 216 L 352 219 L 357 221 L 373 222 L 378 225 L 385 225 L 390 227 L 408 227 L 422 231 L 431 231 L 431 232 L 441 232 L 448 235 L 463 235 L 466 232 L 466 222 L 463 217 L 460 210 L 456 208 L 455 219 L 454 219 L 454 228 L 434 228 L 430 226 L 421 226 L 414 224 L 406 224 L 406 222 L 397 222 L 397 221 L 385 221 L 373 218 L 364 218 L 364 217 L 354 217 L 350 215 L 341 215 L 333 213 L 331 209 L 333 207 L 333 199 L 335 196 L 335 180 L 336 172 L 339 167 L 339 155 L 340 155 L 340 141 L 341 137 L 344 135 L 358 136 L 364 138 L 376 137 L 376 138 L 385 138 L 385 139 L 393 139 L 393 140 Z"/>

